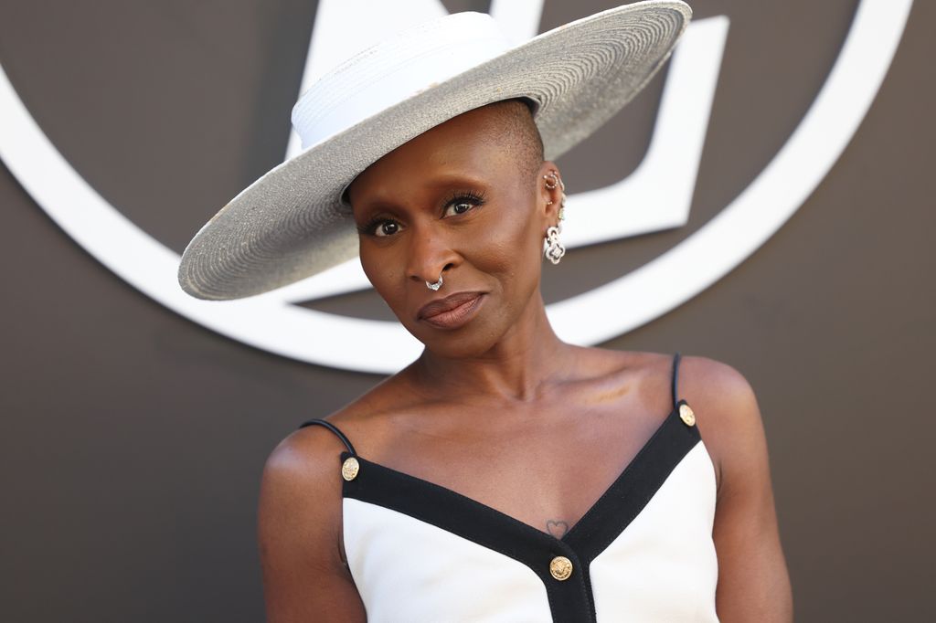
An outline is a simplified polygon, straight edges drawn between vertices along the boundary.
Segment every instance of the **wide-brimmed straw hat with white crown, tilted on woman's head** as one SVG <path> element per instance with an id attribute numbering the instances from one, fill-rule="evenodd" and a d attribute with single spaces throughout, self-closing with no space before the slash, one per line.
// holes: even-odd
<path id="1" fill-rule="evenodd" d="M 347 186 L 376 160 L 447 120 L 513 98 L 532 102 L 553 160 L 627 104 L 692 16 L 674 0 L 611 8 L 511 45 L 484 13 L 419 24 L 361 51 L 300 96 L 302 152 L 231 199 L 179 267 L 197 298 L 250 297 L 358 254 Z"/>

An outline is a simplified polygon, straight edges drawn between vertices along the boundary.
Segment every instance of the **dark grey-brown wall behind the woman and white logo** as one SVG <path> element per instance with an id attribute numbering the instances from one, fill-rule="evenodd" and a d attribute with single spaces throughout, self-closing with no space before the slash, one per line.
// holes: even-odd
<path id="1" fill-rule="evenodd" d="M 612 4 L 547 0 L 541 30 Z M 568 255 L 546 269 L 549 300 L 640 266 L 738 196 L 826 80 L 857 4 L 696 0 L 698 17 L 728 15 L 731 29 L 692 218 Z M 314 15 L 298 0 L 4 0 L 0 62 L 81 175 L 181 252 L 282 159 Z M 797 620 L 936 620 L 933 22 L 936 6 L 917 0 L 867 118 L 776 235 L 607 344 L 707 355 L 751 381 Z M 636 167 L 664 78 L 563 157 L 572 192 Z M 6 168 L 0 203 L 0 619 L 261 620 L 263 461 L 380 377 L 170 312 L 82 250 Z M 388 317 L 370 293 L 308 305 Z"/>

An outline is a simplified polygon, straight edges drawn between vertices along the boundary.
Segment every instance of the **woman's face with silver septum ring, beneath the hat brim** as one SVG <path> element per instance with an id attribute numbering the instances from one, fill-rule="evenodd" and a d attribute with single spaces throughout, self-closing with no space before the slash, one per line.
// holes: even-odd
<path id="1" fill-rule="evenodd" d="M 559 205 L 542 176 L 555 166 L 528 157 L 503 106 L 432 128 L 348 188 L 364 272 L 438 355 L 482 355 L 542 305 L 543 237 Z"/>

